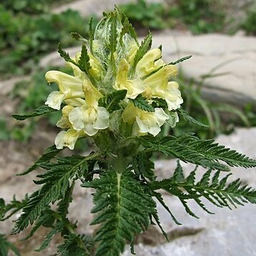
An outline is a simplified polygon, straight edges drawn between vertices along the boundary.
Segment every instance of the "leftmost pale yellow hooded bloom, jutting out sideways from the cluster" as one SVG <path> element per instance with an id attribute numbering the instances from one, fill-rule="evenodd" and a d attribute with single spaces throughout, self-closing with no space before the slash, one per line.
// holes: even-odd
<path id="1" fill-rule="evenodd" d="M 60 109 L 61 103 L 65 99 L 83 98 L 82 80 L 78 77 L 70 76 L 63 72 L 51 70 L 45 74 L 46 81 L 55 82 L 59 87 L 59 92 L 51 92 L 45 102 L 52 109 Z"/>

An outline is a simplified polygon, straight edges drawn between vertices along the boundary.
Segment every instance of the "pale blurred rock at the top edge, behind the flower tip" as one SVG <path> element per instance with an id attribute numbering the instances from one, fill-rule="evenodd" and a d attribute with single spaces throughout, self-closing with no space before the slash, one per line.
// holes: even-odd
<path id="1" fill-rule="evenodd" d="M 54 9 L 52 12 L 54 14 L 59 14 L 62 11 L 67 11 L 67 9 L 73 9 L 74 11 L 79 11 L 79 14 L 84 17 L 90 17 L 92 15 L 102 16 L 103 11 L 111 11 L 114 9 L 114 5 L 128 4 L 131 2 L 136 2 L 135 0 L 79 0 L 74 1 L 74 3 L 64 4 Z M 147 2 L 158 2 L 164 3 L 164 0 L 147 0 Z"/>

